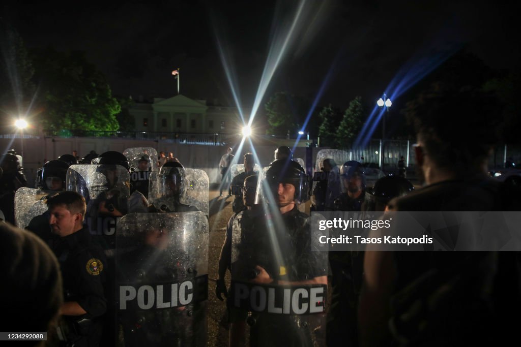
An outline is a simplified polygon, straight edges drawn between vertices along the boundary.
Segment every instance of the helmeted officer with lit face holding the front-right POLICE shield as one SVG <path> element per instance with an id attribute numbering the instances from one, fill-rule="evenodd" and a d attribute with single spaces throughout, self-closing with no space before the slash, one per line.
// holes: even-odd
<path id="1" fill-rule="evenodd" d="M 327 286 L 327 254 L 312 251 L 309 217 L 297 209 L 297 204 L 308 197 L 304 169 L 293 160 L 276 160 L 259 184 L 263 189 L 257 202 L 264 200 L 268 212 L 248 215 L 243 211 L 237 219 L 241 236 L 233 237 L 240 240 L 234 245 L 237 255 L 232 260 L 233 302 L 237 303 L 236 289 L 241 281 L 268 286 L 272 293 L 279 286 L 301 291 L 307 291 L 309 285 Z M 252 346 L 311 346 L 318 339 L 318 326 L 324 326 L 312 323 L 312 317 L 317 316 L 309 312 L 255 311 L 248 320 Z M 321 309 L 317 311 L 318 315 L 322 313 Z"/>

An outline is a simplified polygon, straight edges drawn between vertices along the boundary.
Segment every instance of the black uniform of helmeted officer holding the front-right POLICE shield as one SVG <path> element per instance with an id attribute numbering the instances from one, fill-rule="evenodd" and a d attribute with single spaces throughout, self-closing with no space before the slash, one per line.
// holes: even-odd
<path id="1" fill-rule="evenodd" d="M 259 265 L 275 281 L 301 281 L 327 276 L 326 254 L 314 252 L 311 248 L 309 216 L 295 207 L 281 217 L 284 227 L 276 227 L 275 233 L 269 232 L 269 215 L 253 216 L 241 221 L 238 262 L 241 263 L 242 271 Z M 275 244 L 279 245 L 280 252 L 273 249 L 270 235 L 277 238 Z M 282 259 L 279 260 L 277 254 L 282 255 Z M 250 345 L 312 346 L 317 338 L 313 331 L 315 325 L 305 322 L 306 318 L 297 315 L 253 314 L 250 321 L 253 323 Z"/>

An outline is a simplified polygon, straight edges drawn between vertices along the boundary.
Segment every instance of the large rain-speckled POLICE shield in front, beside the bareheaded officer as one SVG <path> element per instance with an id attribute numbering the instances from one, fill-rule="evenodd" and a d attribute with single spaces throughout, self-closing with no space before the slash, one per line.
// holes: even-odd
<path id="1" fill-rule="evenodd" d="M 116 238 L 122 345 L 206 346 L 204 213 L 130 213 L 118 223 Z"/>

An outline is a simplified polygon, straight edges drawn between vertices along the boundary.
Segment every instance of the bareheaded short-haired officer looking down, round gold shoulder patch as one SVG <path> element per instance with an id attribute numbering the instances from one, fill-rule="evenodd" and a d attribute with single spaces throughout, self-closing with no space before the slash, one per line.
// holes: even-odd
<path id="1" fill-rule="evenodd" d="M 47 207 L 49 224 L 62 241 L 53 249 L 63 276 L 61 335 L 75 346 L 97 346 L 102 335 L 101 317 L 107 309 L 105 255 L 83 227 L 85 199 L 77 192 L 63 191 L 49 198 Z"/>

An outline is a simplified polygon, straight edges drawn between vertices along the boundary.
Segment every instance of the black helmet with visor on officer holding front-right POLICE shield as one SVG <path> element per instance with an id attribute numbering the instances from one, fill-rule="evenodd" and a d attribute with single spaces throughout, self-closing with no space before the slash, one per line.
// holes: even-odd
<path id="1" fill-rule="evenodd" d="M 266 183 L 261 182 L 261 187 L 263 185 L 265 187 L 262 187 L 261 191 L 269 188 L 271 193 L 274 194 L 274 192 L 277 192 L 280 183 L 289 183 L 295 187 L 293 198 L 297 203 L 305 202 L 308 199 L 307 176 L 302 166 L 296 161 L 279 159 L 272 162 L 265 173 L 264 181 Z M 257 189 L 257 191 L 259 190 Z M 274 195 L 275 197 L 276 195 Z M 256 203 L 261 200 L 262 198 L 257 195 Z M 269 202 L 269 199 L 265 201 Z"/>

